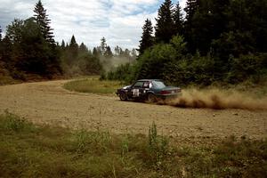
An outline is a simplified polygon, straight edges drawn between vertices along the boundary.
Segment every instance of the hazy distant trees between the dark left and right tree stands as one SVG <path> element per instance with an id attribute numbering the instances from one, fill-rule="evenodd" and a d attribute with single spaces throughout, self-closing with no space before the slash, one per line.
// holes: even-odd
<path id="1" fill-rule="evenodd" d="M 116 62 L 126 63 L 136 58 L 134 49 L 129 51 L 116 46 L 112 52 L 105 37 L 101 38 L 100 46 L 93 47 L 93 52 L 84 43 L 77 44 L 75 36 L 71 37 L 69 44 L 62 40 L 59 48 L 62 73 L 67 77 L 99 75 L 116 66 Z"/>

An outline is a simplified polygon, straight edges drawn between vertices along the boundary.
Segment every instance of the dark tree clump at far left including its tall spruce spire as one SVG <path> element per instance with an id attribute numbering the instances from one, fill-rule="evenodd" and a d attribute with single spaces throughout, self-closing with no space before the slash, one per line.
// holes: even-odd
<path id="1" fill-rule="evenodd" d="M 41 1 L 35 15 L 27 20 L 15 19 L 7 26 L 0 41 L 0 62 L 9 75 L 25 81 L 28 74 L 52 78 L 61 75 L 58 48 L 53 40 L 50 20 Z"/>

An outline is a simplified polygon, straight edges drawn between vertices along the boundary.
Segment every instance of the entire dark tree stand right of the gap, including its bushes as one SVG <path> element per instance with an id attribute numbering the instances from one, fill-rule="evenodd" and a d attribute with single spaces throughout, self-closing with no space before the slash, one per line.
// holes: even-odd
<path id="1" fill-rule="evenodd" d="M 174 85 L 267 79 L 267 0 L 166 0 L 145 20 L 139 57 L 106 77 L 161 78 Z M 154 33 L 155 29 L 155 33 Z"/>

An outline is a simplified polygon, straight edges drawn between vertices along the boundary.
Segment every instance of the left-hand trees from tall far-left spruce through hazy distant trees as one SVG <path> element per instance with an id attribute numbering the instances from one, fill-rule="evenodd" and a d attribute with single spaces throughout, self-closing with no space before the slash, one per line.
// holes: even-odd
<path id="1" fill-rule="evenodd" d="M 99 75 L 109 69 L 115 59 L 134 61 L 136 51 L 116 46 L 112 53 L 106 39 L 91 52 L 84 43 L 77 44 L 72 36 L 69 44 L 54 40 L 53 28 L 41 1 L 36 3 L 35 15 L 27 20 L 15 19 L 2 36 L 0 27 L 0 80 L 28 80 L 32 77 L 55 78 L 77 75 Z M 121 62 L 123 63 L 123 62 Z M 1 83 L 1 82 L 0 82 Z"/>

